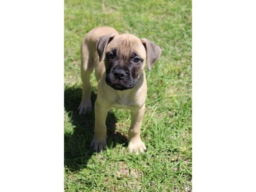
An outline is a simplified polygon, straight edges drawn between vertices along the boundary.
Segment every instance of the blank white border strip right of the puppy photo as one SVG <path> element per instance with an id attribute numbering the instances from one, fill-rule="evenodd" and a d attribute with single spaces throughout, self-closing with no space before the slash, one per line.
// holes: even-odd
<path id="1" fill-rule="evenodd" d="M 192 3 L 192 189 L 255 191 L 256 3 Z"/>

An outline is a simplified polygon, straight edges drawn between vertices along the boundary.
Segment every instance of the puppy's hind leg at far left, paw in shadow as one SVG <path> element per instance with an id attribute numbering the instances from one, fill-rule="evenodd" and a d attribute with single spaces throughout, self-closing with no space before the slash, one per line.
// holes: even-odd
<path id="1" fill-rule="evenodd" d="M 81 79 L 82 79 L 82 99 L 79 105 L 79 114 L 83 114 L 85 111 L 92 110 L 91 103 L 91 85 L 90 74 L 93 72 L 94 62 L 93 57 L 90 55 L 88 44 L 85 39 L 81 45 Z"/>

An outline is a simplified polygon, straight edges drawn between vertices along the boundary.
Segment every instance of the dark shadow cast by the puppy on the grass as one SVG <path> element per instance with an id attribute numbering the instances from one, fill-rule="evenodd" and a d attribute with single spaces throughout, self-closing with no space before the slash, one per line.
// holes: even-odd
<path id="1" fill-rule="evenodd" d="M 94 151 L 90 147 L 90 141 L 93 138 L 94 129 L 94 107 L 93 111 L 88 111 L 84 115 L 79 115 L 77 110 L 81 101 L 81 88 L 65 87 L 64 89 L 64 108 L 71 117 L 71 124 L 68 123 L 64 132 L 64 166 L 70 170 L 76 171 L 86 168 L 88 160 Z M 91 92 L 91 101 L 94 106 L 96 94 Z M 117 143 L 127 146 L 127 138 L 116 132 L 116 116 L 108 112 L 107 125 L 107 146 L 113 148 Z M 73 131 L 72 131 L 73 130 Z"/>

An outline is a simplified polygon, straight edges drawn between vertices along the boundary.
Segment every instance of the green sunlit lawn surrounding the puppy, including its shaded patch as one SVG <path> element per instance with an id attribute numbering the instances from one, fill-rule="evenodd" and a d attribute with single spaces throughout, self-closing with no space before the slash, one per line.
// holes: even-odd
<path id="1" fill-rule="evenodd" d="M 140 2 L 140 3 L 139 3 Z M 65 0 L 64 189 L 65 191 L 192 190 L 191 0 Z M 93 152 L 94 112 L 78 115 L 80 44 L 90 29 L 112 26 L 163 48 L 145 69 L 148 97 L 141 138 L 144 154 L 127 151 L 129 111 L 108 113 L 108 144 Z M 92 101 L 97 84 L 91 76 Z"/>

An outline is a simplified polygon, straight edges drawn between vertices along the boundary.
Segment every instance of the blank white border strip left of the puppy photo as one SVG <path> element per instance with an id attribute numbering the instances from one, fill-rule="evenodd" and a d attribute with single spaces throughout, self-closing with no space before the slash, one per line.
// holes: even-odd
<path id="1" fill-rule="evenodd" d="M 0 2 L 1 191 L 64 191 L 64 1 Z"/>

